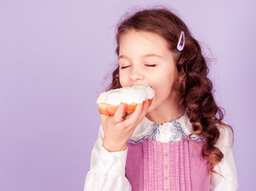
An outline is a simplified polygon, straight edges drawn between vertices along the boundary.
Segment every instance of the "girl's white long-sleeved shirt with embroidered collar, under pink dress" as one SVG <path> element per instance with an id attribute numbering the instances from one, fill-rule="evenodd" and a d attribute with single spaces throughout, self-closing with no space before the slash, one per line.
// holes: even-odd
<path id="1" fill-rule="evenodd" d="M 177 127 L 179 124 L 179 127 Z M 157 130 L 157 131 L 156 131 Z M 234 164 L 234 158 L 230 146 L 230 132 L 226 128 L 220 128 L 221 136 L 215 146 L 224 154 L 214 170 L 223 175 L 213 173 L 211 179 L 211 191 L 234 191 L 238 189 L 238 179 Z M 143 142 L 145 138 L 152 138 L 157 142 L 175 142 L 187 138 L 193 132 L 192 125 L 183 115 L 179 119 L 163 125 L 156 124 L 144 117 L 136 127 L 128 142 Z M 93 146 L 91 166 L 85 178 L 85 191 L 130 191 L 132 186 L 125 177 L 125 163 L 128 149 L 119 152 L 108 152 L 102 146 L 104 137 L 100 125 L 99 137 Z M 193 136 L 196 140 L 199 137 Z"/>

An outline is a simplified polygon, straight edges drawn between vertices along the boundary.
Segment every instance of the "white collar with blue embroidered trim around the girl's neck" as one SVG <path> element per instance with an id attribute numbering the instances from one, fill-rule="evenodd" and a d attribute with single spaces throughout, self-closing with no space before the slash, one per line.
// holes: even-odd
<path id="1" fill-rule="evenodd" d="M 185 113 L 179 119 L 172 120 L 160 125 L 150 121 L 147 117 L 139 123 L 132 137 L 128 139 L 129 143 L 137 144 L 144 142 L 148 138 L 156 142 L 175 142 L 182 138 L 189 140 L 188 135 L 193 132 L 191 122 Z M 202 142 L 203 138 L 193 135 L 191 139 L 195 142 Z"/>

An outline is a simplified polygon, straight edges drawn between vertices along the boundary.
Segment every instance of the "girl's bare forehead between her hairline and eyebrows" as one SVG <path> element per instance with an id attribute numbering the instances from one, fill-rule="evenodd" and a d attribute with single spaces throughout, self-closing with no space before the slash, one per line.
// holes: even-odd
<path id="1" fill-rule="evenodd" d="M 120 56 L 136 57 L 153 53 L 160 56 L 170 53 L 167 41 L 156 33 L 132 29 L 120 38 Z"/>

